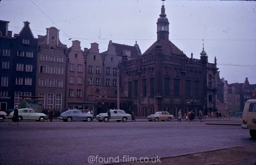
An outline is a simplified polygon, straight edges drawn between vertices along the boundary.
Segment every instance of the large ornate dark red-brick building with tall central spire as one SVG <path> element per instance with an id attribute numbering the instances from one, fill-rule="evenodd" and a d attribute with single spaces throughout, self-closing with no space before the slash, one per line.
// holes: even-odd
<path id="1" fill-rule="evenodd" d="M 162 5 L 157 20 L 157 41 L 137 59 L 122 56 L 122 87 L 128 89 L 131 110 L 136 116 L 168 111 L 177 116 L 199 110 L 217 110 L 217 63 L 208 63 L 206 52 L 200 59 L 188 58 L 169 41 L 169 22 Z"/>

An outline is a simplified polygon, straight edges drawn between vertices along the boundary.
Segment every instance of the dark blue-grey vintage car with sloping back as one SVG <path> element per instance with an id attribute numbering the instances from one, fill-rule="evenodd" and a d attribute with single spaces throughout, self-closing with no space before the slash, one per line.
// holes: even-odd
<path id="1" fill-rule="evenodd" d="M 93 115 L 82 113 L 82 111 L 75 109 L 63 112 L 60 115 L 60 119 L 63 121 L 82 120 L 90 122 L 93 120 Z"/>

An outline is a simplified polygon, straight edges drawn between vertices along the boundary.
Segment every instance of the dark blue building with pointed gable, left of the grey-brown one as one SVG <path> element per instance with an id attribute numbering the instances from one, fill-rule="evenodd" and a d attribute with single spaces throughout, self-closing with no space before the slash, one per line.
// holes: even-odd
<path id="1" fill-rule="evenodd" d="M 9 44 L 9 69 L 6 72 L 2 72 L 2 67 L 2 70 L 0 72 L 1 74 L 3 73 L 4 75 L 8 75 L 7 88 L 9 99 L 6 102 L 6 109 L 13 109 L 15 105 L 19 107 L 20 96 L 36 95 L 36 64 L 38 48 L 37 38 L 33 36 L 29 24 L 30 23 L 27 21 L 24 22 L 24 26 L 19 34 L 14 34 L 13 42 Z M 7 60 L 7 57 L 5 57 L 4 54 L 3 56 L 1 56 L 1 58 L 2 57 L 3 59 L 1 59 L 1 63 L 3 63 L 3 60 Z M 6 78 L 4 78 L 3 80 L 6 80 Z M 4 110 L 4 108 L 2 109 Z"/>

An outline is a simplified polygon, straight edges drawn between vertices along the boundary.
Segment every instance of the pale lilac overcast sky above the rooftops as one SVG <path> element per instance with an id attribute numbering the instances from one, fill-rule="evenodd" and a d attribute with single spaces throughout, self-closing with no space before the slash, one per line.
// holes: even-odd
<path id="1" fill-rule="evenodd" d="M 10 21 L 13 34 L 21 30 L 23 21 L 30 22 L 35 37 L 46 35 L 45 28 L 55 26 L 61 29 L 60 40 L 68 47 L 72 38 L 81 41 L 82 49 L 97 42 L 100 52 L 106 51 L 112 40 L 127 45 L 137 41 L 143 53 L 156 40 L 162 5 L 160 0 L 32 1 L 50 19 L 31 0 L 0 2 L 0 20 Z M 247 76 L 251 84 L 256 83 L 255 1 L 166 0 L 164 5 L 169 39 L 188 57 L 193 52 L 194 58 L 200 58 L 204 38 L 209 62 L 216 56 L 221 78 L 243 83 Z"/>

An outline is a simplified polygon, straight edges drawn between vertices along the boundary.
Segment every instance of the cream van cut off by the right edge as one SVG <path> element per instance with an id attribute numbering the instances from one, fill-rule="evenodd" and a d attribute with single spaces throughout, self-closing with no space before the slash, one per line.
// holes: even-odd
<path id="1" fill-rule="evenodd" d="M 249 129 L 250 135 L 256 139 L 256 100 L 247 100 L 243 112 L 243 129 Z"/>

